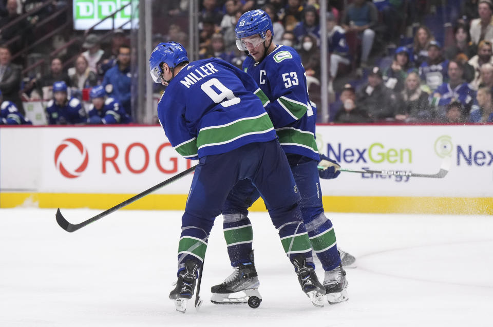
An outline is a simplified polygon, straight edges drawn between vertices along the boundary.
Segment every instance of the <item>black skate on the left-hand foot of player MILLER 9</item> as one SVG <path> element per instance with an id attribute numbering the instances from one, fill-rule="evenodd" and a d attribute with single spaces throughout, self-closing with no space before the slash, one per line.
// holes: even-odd
<path id="1" fill-rule="evenodd" d="M 195 291 L 199 265 L 196 261 L 186 260 L 185 270 L 178 274 L 176 287 L 169 298 L 175 301 L 175 309 L 181 313 L 186 311 L 186 303 L 192 298 Z"/>

